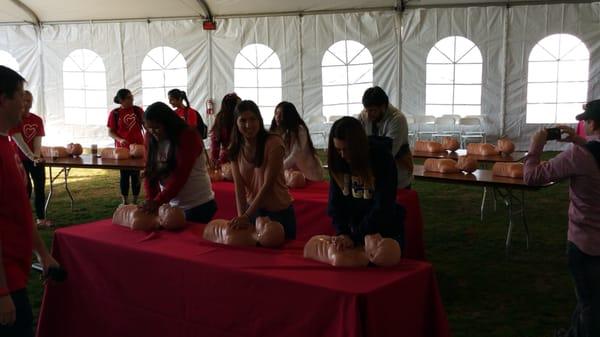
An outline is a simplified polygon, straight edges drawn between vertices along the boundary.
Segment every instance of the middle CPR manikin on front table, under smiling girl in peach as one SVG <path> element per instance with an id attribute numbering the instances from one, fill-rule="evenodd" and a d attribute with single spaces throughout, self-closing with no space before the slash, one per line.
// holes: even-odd
<path id="1" fill-rule="evenodd" d="M 281 247 L 285 242 L 283 226 L 268 217 L 259 217 L 256 223 L 242 224 L 236 228 L 228 220 L 217 219 L 206 225 L 202 237 L 214 243 L 229 246 L 256 246 L 267 248 Z"/>

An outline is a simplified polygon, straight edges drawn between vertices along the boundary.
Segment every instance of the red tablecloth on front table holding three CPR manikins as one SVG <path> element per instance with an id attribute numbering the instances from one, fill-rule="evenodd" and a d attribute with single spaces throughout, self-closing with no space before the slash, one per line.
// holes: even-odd
<path id="1" fill-rule="evenodd" d="M 335 269 L 280 250 L 148 235 L 110 220 L 56 231 L 65 283 L 46 289 L 38 337 L 446 337 L 429 263 Z"/>

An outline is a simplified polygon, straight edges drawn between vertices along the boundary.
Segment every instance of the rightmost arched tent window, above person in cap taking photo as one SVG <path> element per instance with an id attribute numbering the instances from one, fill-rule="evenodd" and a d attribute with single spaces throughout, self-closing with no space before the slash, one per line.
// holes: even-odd
<path id="1" fill-rule="evenodd" d="M 554 34 L 529 54 L 527 123 L 575 123 L 586 101 L 590 53 L 573 35 Z"/>

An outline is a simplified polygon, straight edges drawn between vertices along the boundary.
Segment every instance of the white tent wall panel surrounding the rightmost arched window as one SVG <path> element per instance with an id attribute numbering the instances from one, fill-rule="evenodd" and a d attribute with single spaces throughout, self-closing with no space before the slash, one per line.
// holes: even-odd
<path id="1" fill-rule="evenodd" d="M 588 100 L 600 98 L 600 3 L 518 6 L 509 10 L 509 23 L 505 133 L 527 149 L 531 135 L 543 126 L 525 123 L 528 59 L 541 39 L 567 33 L 582 40 L 590 51 Z M 562 147 L 550 142 L 546 148 Z"/>

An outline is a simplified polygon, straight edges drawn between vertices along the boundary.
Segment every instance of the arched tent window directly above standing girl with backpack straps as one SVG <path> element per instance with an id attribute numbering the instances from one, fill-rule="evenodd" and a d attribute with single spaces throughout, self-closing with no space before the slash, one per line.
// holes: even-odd
<path id="1" fill-rule="evenodd" d="M 142 101 L 144 108 L 154 102 L 169 103 L 171 89 L 187 91 L 187 63 L 171 47 L 157 47 L 142 62 Z"/>

